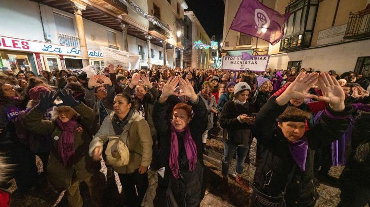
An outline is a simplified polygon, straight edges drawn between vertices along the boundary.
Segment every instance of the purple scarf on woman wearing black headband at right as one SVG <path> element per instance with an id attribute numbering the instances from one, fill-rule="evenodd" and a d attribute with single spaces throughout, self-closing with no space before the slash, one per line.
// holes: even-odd
<path id="1" fill-rule="evenodd" d="M 306 171 L 306 159 L 308 150 L 308 142 L 306 136 L 303 136 L 302 139 L 295 142 L 289 142 L 288 140 L 288 143 L 290 154 L 292 155 L 293 160 L 297 163 L 301 171 Z"/>

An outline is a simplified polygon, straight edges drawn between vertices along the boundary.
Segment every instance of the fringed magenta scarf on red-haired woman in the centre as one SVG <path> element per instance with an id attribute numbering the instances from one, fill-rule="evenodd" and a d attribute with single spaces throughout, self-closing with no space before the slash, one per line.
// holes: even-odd
<path id="1" fill-rule="evenodd" d="M 186 157 L 188 158 L 189 171 L 195 169 L 197 160 L 196 145 L 191 137 L 189 126 L 182 130 L 176 130 L 171 124 L 171 150 L 169 152 L 169 168 L 171 168 L 172 174 L 175 179 L 179 179 L 179 143 L 176 132 L 184 132 L 184 147 Z"/>

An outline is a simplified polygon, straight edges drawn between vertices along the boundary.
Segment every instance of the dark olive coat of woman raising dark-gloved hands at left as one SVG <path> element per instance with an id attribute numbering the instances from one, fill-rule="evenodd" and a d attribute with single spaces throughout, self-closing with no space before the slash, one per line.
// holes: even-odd
<path id="1" fill-rule="evenodd" d="M 80 115 L 78 123 L 73 132 L 75 153 L 73 155 L 73 166 L 65 167 L 61 164 L 58 155 L 58 142 L 62 130 L 58 124 L 53 121 L 42 120 L 44 112 L 38 111 L 37 108 L 31 109 L 23 120 L 24 126 L 32 133 L 49 136 L 51 139 L 50 157 L 47 166 L 48 178 L 54 187 L 68 189 L 75 176 L 78 181 L 84 181 L 93 174 L 97 173 L 100 168 L 100 162 L 95 162 L 88 155 L 89 145 L 92 135 L 89 132 L 90 126 L 94 121 L 94 111 L 83 103 L 73 107 Z"/>

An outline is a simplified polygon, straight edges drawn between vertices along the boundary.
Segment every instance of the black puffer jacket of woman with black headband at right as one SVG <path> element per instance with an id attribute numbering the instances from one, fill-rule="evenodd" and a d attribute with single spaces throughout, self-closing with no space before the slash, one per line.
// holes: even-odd
<path id="1" fill-rule="evenodd" d="M 255 187 L 268 196 L 280 195 L 287 183 L 288 174 L 293 165 L 296 165 L 289 150 L 289 143 L 276 124 L 276 118 L 286 107 L 287 105 L 276 104 L 275 98 L 270 99 L 259 111 L 253 126 L 253 133 L 260 145 L 254 177 Z M 352 106 L 347 105 L 343 112 L 334 112 L 327 107 L 320 122 L 303 135 L 308 140 L 306 170 L 302 172 L 296 167 L 292 182 L 286 190 L 287 206 L 314 206 L 317 199 L 312 181 L 315 151 L 342 136 L 349 125 L 347 117 L 352 109 Z M 333 115 L 343 119 L 334 119 Z M 323 134 L 326 136 L 322 136 Z"/>

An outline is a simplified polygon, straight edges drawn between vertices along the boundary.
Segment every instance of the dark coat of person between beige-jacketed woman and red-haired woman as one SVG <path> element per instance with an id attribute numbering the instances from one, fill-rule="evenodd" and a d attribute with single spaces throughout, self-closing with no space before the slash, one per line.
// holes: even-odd
<path id="1" fill-rule="evenodd" d="M 126 86 L 126 88 L 123 90 L 123 93 L 131 95 L 131 88 L 129 86 Z M 132 96 L 132 108 L 136 109 L 136 111 L 139 111 L 140 105 L 144 105 L 144 112 L 145 112 L 145 121 L 148 122 L 150 133 L 152 136 L 157 134 L 157 131 L 155 130 L 153 119 L 152 119 L 152 111 L 153 111 L 153 104 L 154 101 L 159 96 L 158 89 L 154 86 L 151 89 L 148 89 L 147 94 L 144 95 L 144 98 L 142 101 L 137 98 L 137 96 Z"/>

